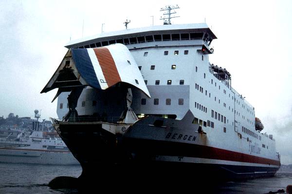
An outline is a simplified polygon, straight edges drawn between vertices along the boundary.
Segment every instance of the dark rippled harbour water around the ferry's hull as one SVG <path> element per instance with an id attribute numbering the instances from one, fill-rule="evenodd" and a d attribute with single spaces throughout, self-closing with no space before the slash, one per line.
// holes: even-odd
<path id="1" fill-rule="evenodd" d="M 79 165 L 0 163 L 0 194 L 78 194 L 77 190 L 52 190 L 48 183 L 58 176 L 77 178 L 81 172 Z M 279 171 L 273 178 L 227 182 L 213 190 L 215 194 L 266 194 L 285 190 L 288 184 L 292 184 L 292 172 Z"/>

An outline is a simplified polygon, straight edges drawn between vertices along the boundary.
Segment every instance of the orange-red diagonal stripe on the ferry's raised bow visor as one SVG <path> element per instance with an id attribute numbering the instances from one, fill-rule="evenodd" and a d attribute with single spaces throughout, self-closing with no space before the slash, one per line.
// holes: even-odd
<path id="1" fill-rule="evenodd" d="M 98 60 L 98 63 L 102 69 L 104 77 L 108 83 L 108 86 L 112 86 L 121 81 L 118 69 L 114 63 L 114 60 L 110 54 L 108 48 L 102 47 L 93 49 Z"/>

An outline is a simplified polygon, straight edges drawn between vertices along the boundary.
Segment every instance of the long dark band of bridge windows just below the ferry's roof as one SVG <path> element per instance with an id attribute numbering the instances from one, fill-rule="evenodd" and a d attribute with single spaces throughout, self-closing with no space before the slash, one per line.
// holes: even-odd
<path id="1" fill-rule="evenodd" d="M 155 35 L 146 35 L 146 36 L 139 36 L 139 37 L 121 38 L 121 39 L 115 39 L 115 40 L 109 40 L 109 41 L 96 42 L 90 45 L 78 47 L 78 49 L 104 47 L 104 46 L 108 46 L 108 45 L 116 44 L 116 43 L 128 45 L 128 44 L 145 43 L 145 42 L 153 42 L 153 41 L 195 40 L 195 39 L 203 39 L 208 45 L 210 45 L 212 41 L 210 39 L 210 35 L 203 32 L 155 34 Z"/>

